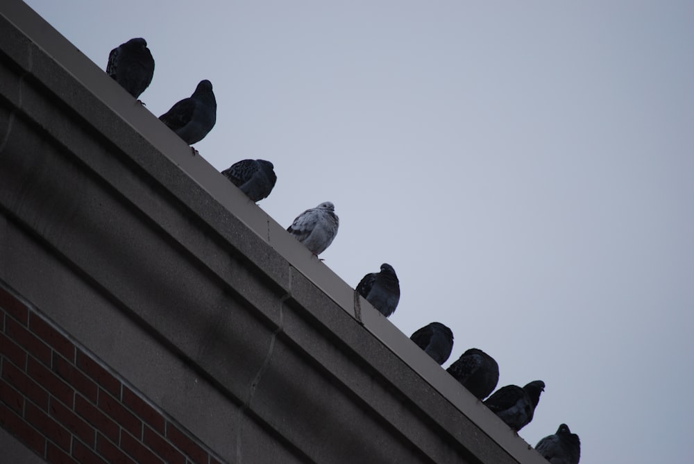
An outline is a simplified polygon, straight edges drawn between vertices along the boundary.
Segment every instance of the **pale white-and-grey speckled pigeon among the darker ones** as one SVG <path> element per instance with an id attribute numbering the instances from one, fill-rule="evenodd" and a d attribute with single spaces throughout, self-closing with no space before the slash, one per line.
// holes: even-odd
<path id="1" fill-rule="evenodd" d="M 296 216 L 287 232 L 317 257 L 335 239 L 339 225 L 335 205 L 326 201 Z"/>

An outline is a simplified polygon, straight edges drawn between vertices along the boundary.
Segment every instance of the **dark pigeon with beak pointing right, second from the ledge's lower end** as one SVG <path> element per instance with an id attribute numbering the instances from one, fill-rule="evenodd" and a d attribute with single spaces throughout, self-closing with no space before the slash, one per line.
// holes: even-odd
<path id="1" fill-rule="evenodd" d="M 541 380 L 532 381 L 523 388 L 507 385 L 485 399 L 484 404 L 511 429 L 518 432 L 532 420 L 535 408 L 540 402 L 540 393 L 544 390 L 545 382 Z"/>

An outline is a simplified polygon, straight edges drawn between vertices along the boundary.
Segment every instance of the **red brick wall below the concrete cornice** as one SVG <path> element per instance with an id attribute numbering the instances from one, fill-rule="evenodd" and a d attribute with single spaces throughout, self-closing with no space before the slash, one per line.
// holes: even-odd
<path id="1" fill-rule="evenodd" d="M 49 463 L 221 462 L 2 288 L 0 374 L 1 427 Z"/>

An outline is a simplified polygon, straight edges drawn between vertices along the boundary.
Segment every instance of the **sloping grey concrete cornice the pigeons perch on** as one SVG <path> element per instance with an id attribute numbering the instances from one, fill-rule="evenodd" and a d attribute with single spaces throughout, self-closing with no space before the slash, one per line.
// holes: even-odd
<path id="1" fill-rule="evenodd" d="M 543 463 L 18 0 L 0 280 L 231 462 Z"/>

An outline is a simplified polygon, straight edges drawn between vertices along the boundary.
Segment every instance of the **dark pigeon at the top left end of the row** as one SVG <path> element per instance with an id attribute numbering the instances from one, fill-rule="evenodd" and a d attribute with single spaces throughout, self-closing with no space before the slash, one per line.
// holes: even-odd
<path id="1" fill-rule="evenodd" d="M 106 74 L 111 76 L 128 94 L 138 98 L 149 87 L 154 76 L 154 58 L 146 40 L 130 39 L 111 50 Z"/>

